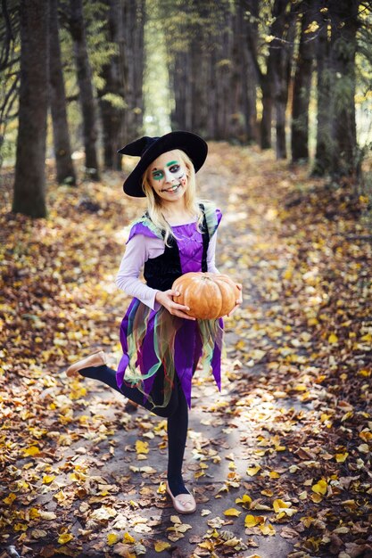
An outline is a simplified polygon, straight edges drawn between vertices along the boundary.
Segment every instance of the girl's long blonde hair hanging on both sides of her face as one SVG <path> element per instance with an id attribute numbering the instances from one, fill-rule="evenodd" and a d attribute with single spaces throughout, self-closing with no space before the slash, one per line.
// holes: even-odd
<path id="1" fill-rule="evenodd" d="M 203 212 L 202 209 L 199 207 L 198 200 L 196 199 L 196 180 L 195 180 L 195 169 L 192 161 L 186 155 L 185 152 L 181 151 L 180 149 L 171 150 L 175 152 L 178 156 L 178 159 L 181 160 L 185 167 L 186 167 L 186 176 L 187 176 L 187 188 L 185 192 L 185 206 L 186 211 L 190 213 L 190 215 L 197 216 L 197 226 L 199 230 L 201 230 L 202 223 L 203 223 Z M 164 235 L 164 242 L 166 246 L 169 246 L 168 240 L 169 236 L 174 236 L 172 229 L 169 226 L 169 223 L 165 219 L 161 211 L 161 197 L 153 190 L 153 186 L 150 185 L 150 172 L 151 172 L 151 165 L 145 170 L 145 174 L 143 176 L 143 183 L 142 189 L 145 192 L 147 198 L 147 211 L 149 217 L 153 221 L 153 225 L 156 226 L 161 234 Z"/>

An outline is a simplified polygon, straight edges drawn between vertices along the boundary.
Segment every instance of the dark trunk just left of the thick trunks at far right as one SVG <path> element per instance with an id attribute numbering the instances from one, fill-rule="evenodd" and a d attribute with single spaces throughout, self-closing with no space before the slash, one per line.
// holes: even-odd
<path id="1" fill-rule="evenodd" d="M 302 3 L 302 22 L 299 53 L 293 80 L 292 102 L 292 160 L 309 159 L 309 103 L 312 63 L 314 58 L 314 32 L 309 26 L 315 20 L 309 0 Z"/>

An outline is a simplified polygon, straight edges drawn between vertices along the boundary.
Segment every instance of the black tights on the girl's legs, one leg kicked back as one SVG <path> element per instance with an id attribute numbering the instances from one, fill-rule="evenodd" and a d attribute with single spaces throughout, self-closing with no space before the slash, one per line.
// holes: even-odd
<path id="1" fill-rule="evenodd" d="M 168 419 L 167 478 L 169 488 L 173 496 L 188 493 L 182 479 L 182 462 L 186 446 L 188 409 L 185 394 L 182 390 L 181 383 L 178 380 L 178 376 L 176 375 L 174 388 L 168 405 L 153 408 L 153 405 L 149 401 L 144 400 L 144 394 L 140 390 L 137 390 L 137 388 L 131 388 L 123 384 L 120 390 L 116 383 L 116 372 L 109 366 L 89 366 L 88 368 L 80 370 L 79 373 L 86 378 L 92 378 L 93 380 L 99 380 L 100 382 L 106 383 L 113 390 L 119 391 L 119 393 L 131 401 L 134 401 L 138 405 L 145 406 L 146 409 L 152 411 L 158 416 Z M 157 385 L 157 383 L 159 385 Z M 161 395 L 161 374 L 157 374 L 153 385 L 154 392 L 156 393 L 158 391 Z"/>

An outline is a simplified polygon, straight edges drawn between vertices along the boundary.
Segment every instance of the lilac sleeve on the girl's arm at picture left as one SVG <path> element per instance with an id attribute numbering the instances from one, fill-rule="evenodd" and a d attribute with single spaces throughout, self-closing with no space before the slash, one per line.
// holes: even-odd
<path id="1" fill-rule="evenodd" d="M 115 283 L 121 291 L 136 297 L 149 308 L 157 310 L 160 308 L 160 305 L 155 302 L 157 289 L 148 287 L 138 278 L 146 259 L 149 258 L 149 250 L 153 241 L 156 242 L 157 239 L 145 234 L 129 236 Z"/>

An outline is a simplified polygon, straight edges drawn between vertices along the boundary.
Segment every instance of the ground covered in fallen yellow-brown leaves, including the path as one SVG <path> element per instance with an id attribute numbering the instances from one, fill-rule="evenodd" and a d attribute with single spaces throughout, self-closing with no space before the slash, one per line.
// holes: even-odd
<path id="1" fill-rule="evenodd" d="M 219 269 L 244 306 L 226 321 L 221 394 L 194 382 L 198 508 L 177 516 L 166 423 L 63 373 L 94 349 L 120 358 L 129 300 L 114 277 L 141 211 L 121 182 L 50 180 L 49 217 L 32 223 L 9 213 L 4 181 L 0 555 L 372 556 L 368 200 L 211 145 L 200 191 L 223 210 Z"/>

